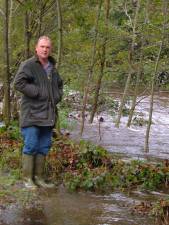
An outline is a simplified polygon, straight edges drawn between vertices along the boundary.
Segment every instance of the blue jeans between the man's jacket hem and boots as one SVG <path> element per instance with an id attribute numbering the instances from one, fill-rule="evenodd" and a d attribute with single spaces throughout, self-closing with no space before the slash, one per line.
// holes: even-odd
<path id="1" fill-rule="evenodd" d="M 52 144 L 51 127 L 24 127 L 21 128 L 24 139 L 23 153 L 28 155 L 47 155 Z"/>

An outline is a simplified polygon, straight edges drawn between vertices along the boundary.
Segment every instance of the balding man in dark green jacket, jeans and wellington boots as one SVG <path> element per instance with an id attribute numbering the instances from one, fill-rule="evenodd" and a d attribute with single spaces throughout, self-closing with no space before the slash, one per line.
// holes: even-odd
<path id="1" fill-rule="evenodd" d="M 31 189 L 51 187 L 44 180 L 45 157 L 51 147 L 56 105 L 63 94 L 63 82 L 50 56 L 51 48 L 49 37 L 40 37 L 35 56 L 21 63 L 14 80 L 16 90 L 22 93 L 23 177 L 25 186 Z"/>

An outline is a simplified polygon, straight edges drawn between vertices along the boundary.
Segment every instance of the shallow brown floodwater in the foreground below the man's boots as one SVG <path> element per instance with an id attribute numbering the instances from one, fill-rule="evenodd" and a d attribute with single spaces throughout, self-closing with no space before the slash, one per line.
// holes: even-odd
<path id="1" fill-rule="evenodd" d="M 63 187 L 50 193 L 40 193 L 41 207 L 10 206 L 0 225 L 159 225 L 152 216 L 135 211 L 135 205 L 148 204 L 162 193 L 132 194 L 114 192 L 101 195 L 90 192 L 69 193 Z"/>

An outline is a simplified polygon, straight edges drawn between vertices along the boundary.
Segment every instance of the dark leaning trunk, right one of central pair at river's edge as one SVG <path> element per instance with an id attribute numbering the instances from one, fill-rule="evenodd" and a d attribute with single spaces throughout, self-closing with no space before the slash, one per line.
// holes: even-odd
<path id="1" fill-rule="evenodd" d="M 109 19 L 109 11 L 110 11 L 110 0 L 106 0 L 106 15 L 105 15 L 105 28 L 106 28 L 106 34 L 104 36 L 103 44 L 102 44 L 102 53 L 101 53 L 101 63 L 100 63 L 100 74 L 97 80 L 97 85 L 96 85 L 96 91 L 95 91 L 95 96 L 94 96 L 94 104 L 93 104 L 93 109 L 90 115 L 90 120 L 89 122 L 92 123 L 94 119 L 94 115 L 97 110 L 97 105 L 98 105 L 98 99 L 99 99 L 99 92 L 101 89 L 101 82 L 102 78 L 104 75 L 104 67 L 105 67 L 105 60 L 106 60 L 106 44 L 107 44 L 107 32 L 108 32 L 108 19 Z"/>

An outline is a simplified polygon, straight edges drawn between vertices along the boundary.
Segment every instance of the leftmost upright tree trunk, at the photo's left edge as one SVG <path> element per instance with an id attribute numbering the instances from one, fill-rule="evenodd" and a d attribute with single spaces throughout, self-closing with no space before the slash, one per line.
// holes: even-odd
<path id="1" fill-rule="evenodd" d="M 4 21 L 4 62 L 5 62 L 5 76 L 4 76 L 4 121 L 5 125 L 10 123 L 10 65 L 9 65 L 9 0 L 4 0 L 5 6 L 5 21 Z"/>

